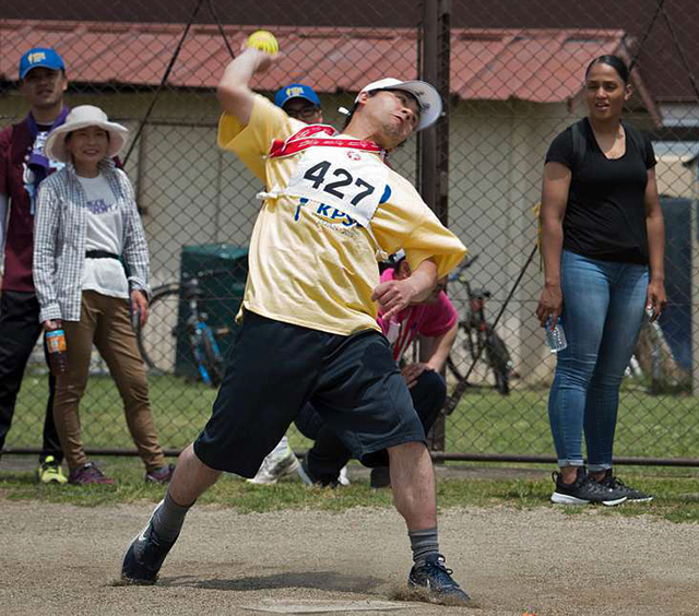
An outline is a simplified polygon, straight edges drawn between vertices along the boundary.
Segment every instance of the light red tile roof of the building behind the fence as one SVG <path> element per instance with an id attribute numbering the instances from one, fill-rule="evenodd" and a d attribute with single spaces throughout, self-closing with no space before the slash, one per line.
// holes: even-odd
<path id="1" fill-rule="evenodd" d="M 0 79 L 16 80 L 20 56 L 55 47 L 72 82 L 157 85 L 183 25 L 0 20 Z M 234 50 L 253 28 L 225 26 Z M 273 26 L 283 56 L 253 86 L 300 81 L 319 92 L 357 92 L 367 82 L 416 78 L 416 32 L 407 28 Z M 536 103 L 579 93 L 587 63 L 618 52 L 618 29 L 452 29 L 451 88 L 462 99 Z M 215 26 L 190 29 L 168 83 L 214 87 L 229 59 Z"/>

